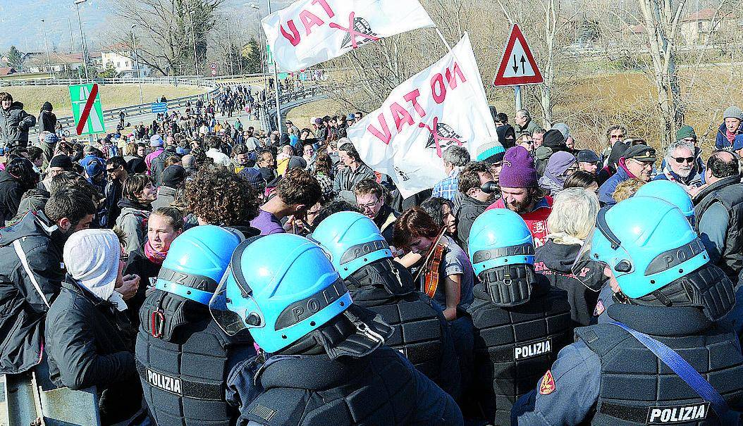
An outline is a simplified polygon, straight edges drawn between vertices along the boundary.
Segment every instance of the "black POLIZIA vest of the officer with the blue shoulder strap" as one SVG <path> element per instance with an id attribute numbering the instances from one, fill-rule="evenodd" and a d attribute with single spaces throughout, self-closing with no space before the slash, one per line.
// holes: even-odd
<path id="1" fill-rule="evenodd" d="M 710 404 L 629 332 L 596 324 L 575 335 L 601 361 L 591 425 L 721 425 Z M 743 357 L 735 333 L 713 326 L 699 335 L 652 337 L 681 355 L 725 399 L 740 401 Z"/>

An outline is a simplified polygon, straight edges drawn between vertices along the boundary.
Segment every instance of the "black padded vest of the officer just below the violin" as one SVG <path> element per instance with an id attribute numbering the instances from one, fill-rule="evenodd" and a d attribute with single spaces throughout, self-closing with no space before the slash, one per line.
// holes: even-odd
<path id="1" fill-rule="evenodd" d="M 384 344 L 406 356 L 421 373 L 452 396 L 458 394 L 459 382 L 450 383 L 442 372 L 457 368 L 456 359 L 444 358 L 444 344 L 453 347 L 451 334 L 443 316 L 432 307 L 421 292 L 390 295 L 384 289 L 351 289 L 354 304 L 379 314 L 395 333 Z M 441 318 L 439 318 L 441 316 Z M 452 376 L 452 375 L 448 375 Z M 453 376 L 459 376 L 458 372 Z"/>

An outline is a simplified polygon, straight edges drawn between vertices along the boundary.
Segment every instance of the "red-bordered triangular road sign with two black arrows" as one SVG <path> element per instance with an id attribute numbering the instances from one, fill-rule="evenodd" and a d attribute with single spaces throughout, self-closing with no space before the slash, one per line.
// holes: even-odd
<path id="1" fill-rule="evenodd" d="M 544 82 L 519 24 L 513 24 L 503 50 L 494 86 L 537 85 Z"/>

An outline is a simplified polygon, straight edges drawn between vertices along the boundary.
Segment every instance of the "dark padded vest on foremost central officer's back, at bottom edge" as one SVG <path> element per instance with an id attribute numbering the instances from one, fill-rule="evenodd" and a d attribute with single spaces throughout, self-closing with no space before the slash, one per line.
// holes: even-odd
<path id="1" fill-rule="evenodd" d="M 267 362 L 264 392 L 241 417 L 265 426 L 407 425 L 418 410 L 413 370 L 389 347 L 363 358 Z"/>

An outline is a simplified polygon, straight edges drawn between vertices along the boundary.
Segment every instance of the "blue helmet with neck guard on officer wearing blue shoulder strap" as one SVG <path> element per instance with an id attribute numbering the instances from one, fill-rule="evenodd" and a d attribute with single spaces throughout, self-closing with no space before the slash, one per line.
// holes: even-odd
<path id="1" fill-rule="evenodd" d="M 687 218 L 656 197 L 636 195 L 600 210 L 573 274 L 599 291 L 591 286 L 599 280 L 590 275 L 606 269 L 636 304 L 701 307 L 716 321 L 735 303 L 733 284 L 710 263 Z"/>

